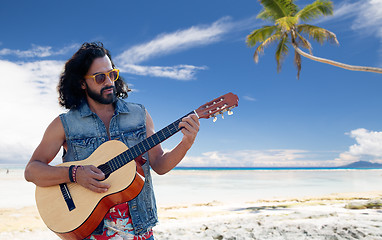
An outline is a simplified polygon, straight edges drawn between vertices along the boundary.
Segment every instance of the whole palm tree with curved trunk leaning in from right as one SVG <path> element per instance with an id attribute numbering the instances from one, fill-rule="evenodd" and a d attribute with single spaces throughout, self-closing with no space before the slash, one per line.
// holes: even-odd
<path id="1" fill-rule="evenodd" d="M 310 39 L 321 44 L 323 44 L 324 41 L 338 44 L 337 37 L 334 33 L 321 27 L 306 24 L 306 22 L 315 20 L 321 16 L 332 15 L 333 3 L 331 1 L 316 0 L 301 10 L 294 4 L 294 0 L 259 1 L 264 9 L 257 15 L 257 18 L 270 21 L 273 25 L 263 26 L 247 36 L 248 46 L 254 47 L 259 43 L 253 55 L 256 63 L 259 61 L 259 54 L 264 52 L 265 47 L 271 43 L 278 42 L 276 48 L 277 71 L 279 72 L 281 70 L 282 60 L 288 54 L 288 45 L 291 44 L 295 50 L 294 63 L 297 67 L 297 78 L 299 78 L 301 71 L 301 55 L 314 61 L 348 70 L 382 73 L 381 68 L 352 66 L 313 56 L 312 45 L 303 37 L 305 34 L 308 35 Z M 303 23 L 300 24 L 300 22 Z M 307 49 L 309 53 L 304 52 L 301 48 Z"/>

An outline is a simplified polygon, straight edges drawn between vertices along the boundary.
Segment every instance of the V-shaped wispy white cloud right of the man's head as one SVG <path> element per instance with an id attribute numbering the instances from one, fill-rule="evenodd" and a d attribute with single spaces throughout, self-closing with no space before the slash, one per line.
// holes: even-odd
<path id="1" fill-rule="evenodd" d="M 121 70 L 131 74 L 191 80 L 195 78 L 198 71 L 205 70 L 207 67 L 188 64 L 142 66 L 141 63 L 153 58 L 221 41 L 223 36 L 229 32 L 253 27 L 254 21 L 253 17 L 237 22 L 233 22 L 229 17 L 224 17 L 210 25 L 192 26 L 188 29 L 160 34 L 147 43 L 127 49 L 116 56 L 115 61 Z"/>

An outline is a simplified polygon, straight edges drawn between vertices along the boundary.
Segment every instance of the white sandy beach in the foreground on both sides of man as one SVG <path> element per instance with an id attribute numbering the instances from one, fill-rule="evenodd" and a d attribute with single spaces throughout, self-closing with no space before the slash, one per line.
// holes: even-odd
<path id="1" fill-rule="evenodd" d="M 22 180 L 6 179 L 2 175 L 0 182 Z M 27 199 L 24 205 L 0 208 L 0 239 L 59 239 Z M 382 191 L 359 191 L 253 201 L 225 201 L 220 196 L 213 201 L 159 201 L 160 224 L 154 234 L 160 240 L 382 239 L 381 199 Z"/>

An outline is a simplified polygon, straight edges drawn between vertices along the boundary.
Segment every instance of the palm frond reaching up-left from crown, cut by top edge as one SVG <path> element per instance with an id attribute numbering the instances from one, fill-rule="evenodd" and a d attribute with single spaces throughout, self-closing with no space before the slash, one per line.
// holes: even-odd
<path id="1" fill-rule="evenodd" d="M 267 16 L 267 19 L 272 18 L 277 20 L 286 16 L 293 16 L 298 12 L 298 7 L 293 3 L 293 0 L 259 0 L 264 7 L 266 14 L 258 15 L 259 18 Z M 263 19 L 263 18 L 262 18 Z"/>

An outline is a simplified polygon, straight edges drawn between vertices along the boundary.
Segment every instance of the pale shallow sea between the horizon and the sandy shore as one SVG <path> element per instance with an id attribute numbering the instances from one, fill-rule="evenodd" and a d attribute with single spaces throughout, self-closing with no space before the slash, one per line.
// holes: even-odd
<path id="1" fill-rule="evenodd" d="M 0 208 L 32 206 L 24 166 L 0 165 Z M 251 202 L 382 191 L 382 169 L 174 169 L 153 175 L 158 205 Z"/>

